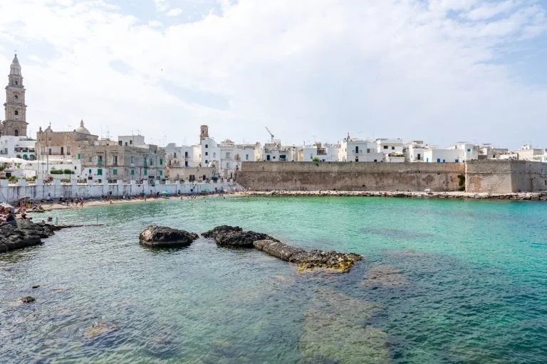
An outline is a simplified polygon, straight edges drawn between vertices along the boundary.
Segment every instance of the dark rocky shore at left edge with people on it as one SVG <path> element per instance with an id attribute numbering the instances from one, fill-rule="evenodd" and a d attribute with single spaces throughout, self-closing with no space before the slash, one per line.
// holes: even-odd
<path id="1" fill-rule="evenodd" d="M 54 225 L 35 224 L 31 220 L 16 220 L 12 224 L 0 227 L 0 252 L 22 249 L 42 243 L 42 239 L 50 237 L 59 230 Z"/>

